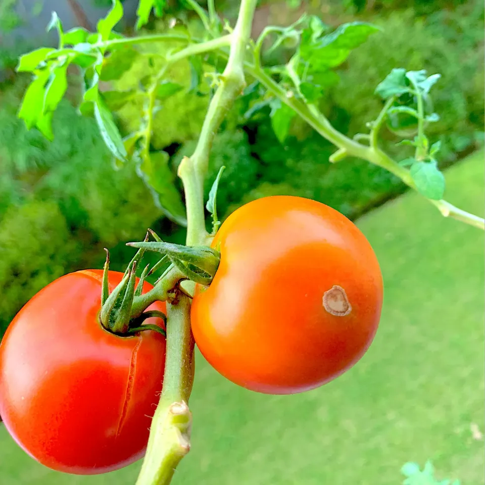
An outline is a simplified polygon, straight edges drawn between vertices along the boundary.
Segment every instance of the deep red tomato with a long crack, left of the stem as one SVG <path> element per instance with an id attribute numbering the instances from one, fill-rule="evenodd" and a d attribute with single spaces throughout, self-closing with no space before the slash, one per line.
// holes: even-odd
<path id="1" fill-rule="evenodd" d="M 165 338 L 121 337 L 98 319 L 102 271 L 70 273 L 37 293 L 0 345 L 0 414 L 15 441 L 55 470 L 96 474 L 141 458 L 165 364 Z M 110 271 L 110 290 L 123 274 Z M 152 288 L 144 283 L 143 293 Z M 150 309 L 165 311 L 165 303 Z M 163 326 L 160 318 L 146 323 Z"/>

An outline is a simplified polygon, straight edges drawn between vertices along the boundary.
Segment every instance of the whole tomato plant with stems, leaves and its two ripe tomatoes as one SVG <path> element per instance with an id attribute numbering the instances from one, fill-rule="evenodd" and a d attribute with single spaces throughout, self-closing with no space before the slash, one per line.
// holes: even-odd
<path id="1" fill-rule="evenodd" d="M 350 368 L 378 325 L 382 279 L 376 257 L 357 227 L 331 208 L 300 198 L 266 198 L 237 210 L 219 229 L 219 172 L 206 205 L 213 217 L 212 232 L 207 230 L 204 179 L 211 146 L 237 98 L 244 98 L 247 117 L 270 110 L 281 143 L 299 116 L 337 148 L 329 162 L 364 159 L 420 192 L 444 216 L 485 227 L 482 218 L 443 200 L 440 142 L 431 143 L 425 133 L 438 119 L 429 92 L 439 74 L 393 69 L 375 91 L 381 111 L 353 138 L 320 111 L 338 77 L 333 70 L 379 28 L 350 22 L 330 31 L 318 17 L 303 15 L 288 27 L 267 26 L 253 40 L 256 0 L 241 0 L 234 27 L 221 22 L 213 0 L 207 12 L 195 0 L 185 4 L 199 17 L 198 28 L 181 25 L 184 15 L 170 17 L 165 1 L 140 0 L 137 28 L 152 12 L 168 16 L 168 28 L 134 37 L 113 31 L 123 18 L 119 0 L 96 32 L 66 32 L 53 14 L 49 29 L 58 31 L 58 49 L 28 53 L 17 68 L 33 75 L 19 117 L 52 138 L 68 67 L 76 66 L 84 81 L 80 112 L 94 116 L 115 163 L 132 164 L 157 206 L 187 226 L 186 246 L 165 243 L 153 231 L 153 240 L 147 233 L 144 241 L 129 243 L 139 251 L 123 275 L 109 272 L 108 258 L 103 273 L 56 280 L 20 311 L 0 347 L 0 412 L 20 445 L 48 466 L 76 473 L 123 466 L 147 446 L 138 485 L 168 484 L 190 449 L 192 327 L 201 351 L 223 375 L 255 391 L 286 394 L 312 389 Z M 164 53 L 141 51 L 139 45 L 160 42 L 170 45 Z M 289 59 L 265 65 L 265 55 L 281 45 L 293 50 Z M 100 81 L 120 78 L 138 56 L 146 56 L 151 67 L 158 61 L 160 71 L 144 75 L 137 89 L 104 90 Z M 190 64 L 188 86 L 169 76 L 182 61 Z M 185 208 L 168 154 L 152 143 L 154 116 L 183 89 L 211 95 L 196 148 L 178 166 Z M 123 137 L 112 112 L 134 101 L 143 108 Z M 404 160 L 381 149 L 386 124 L 400 135 L 415 135 L 400 141 L 412 150 Z M 146 250 L 162 257 L 143 269 L 136 286 Z M 156 270 L 162 274 L 149 287 L 144 280 Z M 157 303 L 165 301 L 167 316 Z M 154 316 L 162 318 L 158 325 L 144 321 Z M 160 334 L 165 319 L 166 354 Z M 147 445 L 148 416 L 160 391 Z"/>

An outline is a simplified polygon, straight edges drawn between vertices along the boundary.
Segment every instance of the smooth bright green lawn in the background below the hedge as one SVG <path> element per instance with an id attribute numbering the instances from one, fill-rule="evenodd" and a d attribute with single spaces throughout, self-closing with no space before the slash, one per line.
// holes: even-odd
<path id="1" fill-rule="evenodd" d="M 345 163 L 345 162 L 343 162 Z M 483 153 L 447 172 L 447 198 L 483 214 Z M 484 234 L 446 220 L 416 194 L 359 221 L 385 296 L 369 352 L 318 390 L 239 389 L 198 355 L 193 447 L 175 485 L 391 485 L 406 461 L 484 482 Z M 139 464 L 96 477 L 36 464 L 0 430 L 0 483 L 132 485 Z"/>

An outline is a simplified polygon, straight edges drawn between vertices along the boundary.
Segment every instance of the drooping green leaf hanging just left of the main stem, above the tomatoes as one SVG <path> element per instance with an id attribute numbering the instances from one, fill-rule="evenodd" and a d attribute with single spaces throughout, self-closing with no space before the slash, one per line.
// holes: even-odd
<path id="1" fill-rule="evenodd" d="M 138 174 L 151 189 L 155 204 L 169 219 L 185 226 L 185 208 L 174 185 L 175 176 L 168 166 L 168 161 L 169 156 L 166 152 L 151 152 L 139 164 Z"/>

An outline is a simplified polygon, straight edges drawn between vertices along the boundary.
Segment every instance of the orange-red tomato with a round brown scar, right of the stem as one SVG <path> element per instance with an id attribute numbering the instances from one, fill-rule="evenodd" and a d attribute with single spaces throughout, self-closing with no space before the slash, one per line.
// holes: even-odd
<path id="1" fill-rule="evenodd" d="M 232 382 L 269 394 L 314 389 L 372 342 L 382 276 L 362 232 L 324 204 L 266 197 L 222 224 L 221 253 L 191 308 L 202 354 Z"/>

